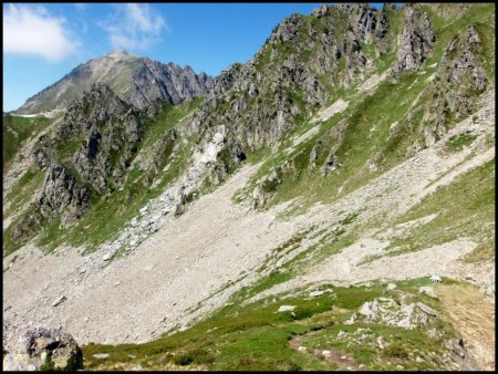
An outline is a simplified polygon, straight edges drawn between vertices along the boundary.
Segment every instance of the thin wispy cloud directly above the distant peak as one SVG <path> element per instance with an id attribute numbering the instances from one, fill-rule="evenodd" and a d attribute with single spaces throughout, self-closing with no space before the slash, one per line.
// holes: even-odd
<path id="1" fill-rule="evenodd" d="M 118 11 L 112 21 L 101 24 L 108 33 L 113 48 L 146 50 L 159 40 L 166 22 L 145 3 L 116 4 Z"/>

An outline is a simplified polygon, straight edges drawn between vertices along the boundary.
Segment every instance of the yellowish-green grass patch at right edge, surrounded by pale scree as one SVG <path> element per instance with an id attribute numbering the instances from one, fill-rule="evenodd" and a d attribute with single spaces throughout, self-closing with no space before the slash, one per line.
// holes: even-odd
<path id="1" fill-rule="evenodd" d="M 421 250 L 463 237 L 479 247 L 467 259 L 488 260 L 495 256 L 495 160 L 477 167 L 452 183 L 438 187 L 396 224 L 432 214 L 438 216 L 392 241 L 391 256 Z"/>

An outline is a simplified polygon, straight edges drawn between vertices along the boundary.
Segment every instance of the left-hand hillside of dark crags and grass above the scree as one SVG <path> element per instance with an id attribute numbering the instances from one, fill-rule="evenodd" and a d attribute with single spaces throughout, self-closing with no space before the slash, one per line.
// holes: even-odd
<path id="1" fill-rule="evenodd" d="M 101 245 L 120 230 L 131 214 L 179 176 L 191 144 L 183 138 L 177 122 L 197 103 L 176 107 L 157 103 L 141 112 L 107 85 L 93 85 L 31 142 L 32 163 L 23 174 L 8 170 L 12 181 L 4 186 L 3 214 L 12 224 L 4 231 L 4 251 L 15 250 L 40 231 L 44 235 L 39 240 L 55 248 L 72 235 L 87 246 Z M 104 215 L 102 209 L 111 207 Z M 91 241 L 81 236 L 87 221 Z"/>

